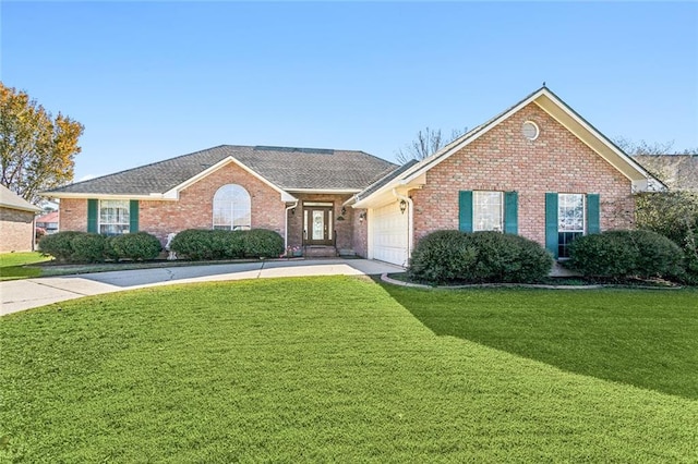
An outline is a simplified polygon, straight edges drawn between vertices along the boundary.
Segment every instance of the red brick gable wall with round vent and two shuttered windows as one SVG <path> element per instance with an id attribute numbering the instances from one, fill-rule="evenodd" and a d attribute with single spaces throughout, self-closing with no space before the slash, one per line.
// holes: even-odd
<path id="1" fill-rule="evenodd" d="M 535 141 L 521 134 L 531 120 Z M 537 105 L 454 154 L 426 173 L 426 185 L 410 191 L 416 241 L 438 229 L 458 229 L 459 191 L 517 191 L 519 234 L 545 243 L 545 193 L 598 193 L 601 229 L 633 225 L 630 181 Z"/>

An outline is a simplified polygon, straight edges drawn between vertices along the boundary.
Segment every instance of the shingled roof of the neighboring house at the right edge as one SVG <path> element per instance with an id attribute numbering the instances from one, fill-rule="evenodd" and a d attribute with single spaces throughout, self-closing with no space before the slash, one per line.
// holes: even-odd
<path id="1" fill-rule="evenodd" d="M 633 158 L 671 190 L 698 192 L 698 155 L 636 155 Z"/>

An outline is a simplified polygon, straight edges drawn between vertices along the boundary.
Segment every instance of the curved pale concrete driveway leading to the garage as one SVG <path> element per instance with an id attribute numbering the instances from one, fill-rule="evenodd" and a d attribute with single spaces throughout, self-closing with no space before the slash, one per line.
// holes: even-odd
<path id="1" fill-rule="evenodd" d="M 0 282 L 0 316 L 101 293 L 172 283 L 301 276 L 373 276 L 399 266 L 366 259 L 302 259 L 136 269 Z"/>

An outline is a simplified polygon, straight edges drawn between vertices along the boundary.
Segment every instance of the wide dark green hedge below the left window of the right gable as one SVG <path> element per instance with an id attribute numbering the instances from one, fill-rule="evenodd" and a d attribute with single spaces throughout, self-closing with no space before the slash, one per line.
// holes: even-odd
<path id="1" fill-rule="evenodd" d="M 429 283 L 538 282 L 553 257 L 538 242 L 500 232 L 436 231 L 418 243 L 408 268 Z"/>

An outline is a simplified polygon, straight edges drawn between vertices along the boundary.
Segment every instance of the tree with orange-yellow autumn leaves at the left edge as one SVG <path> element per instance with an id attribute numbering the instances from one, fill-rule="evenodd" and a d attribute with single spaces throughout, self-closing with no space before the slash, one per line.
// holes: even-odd
<path id="1" fill-rule="evenodd" d="M 0 183 L 24 199 L 73 180 L 84 126 L 0 82 Z"/>

